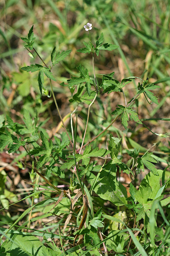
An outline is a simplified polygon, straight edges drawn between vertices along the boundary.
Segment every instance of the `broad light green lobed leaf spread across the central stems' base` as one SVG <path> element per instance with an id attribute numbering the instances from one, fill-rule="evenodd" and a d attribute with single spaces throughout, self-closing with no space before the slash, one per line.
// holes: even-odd
<path id="1" fill-rule="evenodd" d="M 104 148 L 95 148 L 91 152 L 91 146 L 87 146 L 83 152 L 83 155 L 75 154 L 76 162 L 79 162 L 82 159 L 82 165 L 87 166 L 90 162 L 90 157 L 99 157 L 99 156 L 105 156 L 110 153 L 109 150 L 106 150 Z M 68 156 L 68 158 L 71 158 L 66 163 L 64 163 L 60 168 L 61 169 L 70 169 L 74 164 L 74 156 Z"/>

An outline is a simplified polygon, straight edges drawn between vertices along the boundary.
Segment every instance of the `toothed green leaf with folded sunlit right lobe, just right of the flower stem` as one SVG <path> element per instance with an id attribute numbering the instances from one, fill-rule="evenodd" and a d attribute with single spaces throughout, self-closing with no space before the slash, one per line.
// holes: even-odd
<path id="1" fill-rule="evenodd" d="M 117 81 L 116 79 L 112 78 L 108 75 L 103 75 L 103 84 L 102 88 L 104 89 L 103 93 L 107 92 L 121 92 L 121 88 L 123 88 L 126 84 L 131 83 L 131 81 L 135 78 L 139 78 L 138 76 L 129 76 L 124 79 L 122 79 L 121 83 Z M 139 78 L 140 79 L 140 78 Z"/>

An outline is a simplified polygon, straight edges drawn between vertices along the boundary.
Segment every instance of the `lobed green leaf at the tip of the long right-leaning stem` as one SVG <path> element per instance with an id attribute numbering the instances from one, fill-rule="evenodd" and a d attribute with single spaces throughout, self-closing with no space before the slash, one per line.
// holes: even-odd
<path id="1" fill-rule="evenodd" d="M 154 96 L 154 93 L 153 92 L 150 92 L 149 90 L 154 90 L 156 88 L 160 88 L 159 85 L 156 85 L 156 84 L 148 84 L 148 85 L 145 85 L 147 83 L 148 79 L 146 79 L 146 81 L 143 82 L 143 84 L 138 84 L 138 93 L 144 93 L 146 94 L 146 96 L 152 100 L 152 102 L 156 103 L 157 105 L 159 104 L 158 103 L 158 99 L 157 97 Z"/>

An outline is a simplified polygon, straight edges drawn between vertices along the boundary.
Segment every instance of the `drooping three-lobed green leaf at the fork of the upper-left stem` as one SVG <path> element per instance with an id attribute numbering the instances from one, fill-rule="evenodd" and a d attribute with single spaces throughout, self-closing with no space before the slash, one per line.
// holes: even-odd
<path id="1" fill-rule="evenodd" d="M 53 74 L 50 72 L 50 68 L 46 68 L 43 67 L 39 64 L 31 64 L 31 66 L 27 66 L 27 67 L 23 67 L 21 68 L 22 70 L 25 70 L 27 72 L 31 71 L 31 72 L 35 72 L 39 70 L 39 75 L 38 75 L 38 82 L 39 82 L 39 90 L 40 93 L 42 94 L 42 88 L 43 88 L 43 84 L 44 84 L 44 74 L 50 78 L 51 80 L 56 82 L 56 79 L 53 77 Z"/>

